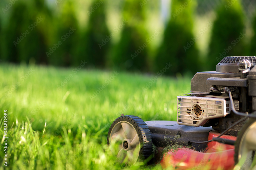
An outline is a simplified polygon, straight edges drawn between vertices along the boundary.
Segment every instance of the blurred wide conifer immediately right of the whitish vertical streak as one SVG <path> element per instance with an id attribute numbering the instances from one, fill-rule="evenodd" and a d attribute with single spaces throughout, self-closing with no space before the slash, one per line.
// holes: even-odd
<path id="1" fill-rule="evenodd" d="M 169 62 L 172 66 L 165 73 L 168 75 L 198 71 L 198 37 L 192 33 L 195 7 L 195 1 L 192 0 L 172 1 L 170 21 L 155 58 L 156 71 L 165 68 Z"/>

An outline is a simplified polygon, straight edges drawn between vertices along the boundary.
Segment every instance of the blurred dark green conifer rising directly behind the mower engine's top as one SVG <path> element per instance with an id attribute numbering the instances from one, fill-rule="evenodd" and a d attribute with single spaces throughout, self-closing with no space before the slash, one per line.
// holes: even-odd
<path id="1" fill-rule="evenodd" d="M 207 63 L 208 70 L 216 70 L 216 64 L 226 56 L 244 56 L 243 10 L 240 1 L 225 0 L 216 12 L 211 33 Z"/>

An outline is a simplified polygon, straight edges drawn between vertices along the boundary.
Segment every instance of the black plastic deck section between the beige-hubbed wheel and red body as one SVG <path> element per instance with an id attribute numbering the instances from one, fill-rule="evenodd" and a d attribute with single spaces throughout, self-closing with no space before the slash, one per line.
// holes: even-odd
<path id="1" fill-rule="evenodd" d="M 211 127 L 178 125 L 176 121 L 147 121 L 145 123 L 150 129 L 153 144 L 159 148 L 177 144 L 189 145 L 200 151 L 206 148 L 207 143 L 190 144 L 189 141 L 207 141 L 209 132 L 214 130 Z"/>

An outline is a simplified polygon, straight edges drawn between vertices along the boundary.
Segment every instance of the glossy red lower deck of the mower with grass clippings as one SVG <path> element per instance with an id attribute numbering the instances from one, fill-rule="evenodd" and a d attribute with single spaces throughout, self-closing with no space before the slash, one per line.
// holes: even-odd
<path id="1" fill-rule="evenodd" d="M 216 131 L 209 133 L 208 139 L 217 137 L 220 134 Z M 222 139 L 236 140 L 236 137 L 223 135 Z M 169 166 L 178 167 L 179 169 L 224 169 L 234 168 L 234 146 L 212 141 L 208 143 L 205 150 L 199 152 L 189 148 L 178 148 L 170 150 L 164 154 L 161 161 L 163 168 Z"/>

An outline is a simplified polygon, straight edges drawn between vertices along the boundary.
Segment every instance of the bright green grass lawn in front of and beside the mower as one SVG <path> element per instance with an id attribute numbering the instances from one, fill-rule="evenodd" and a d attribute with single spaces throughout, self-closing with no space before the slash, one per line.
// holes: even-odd
<path id="1" fill-rule="evenodd" d="M 8 151 L 1 139 L 0 169 L 120 169 L 115 146 L 107 145 L 111 123 L 122 113 L 144 121 L 175 121 L 176 97 L 190 91 L 191 77 L 113 74 L 0 65 L 0 136 L 8 110 L 9 137 Z M 151 84 L 155 76 L 158 80 Z M 5 152 L 8 167 L 3 162 Z"/>

